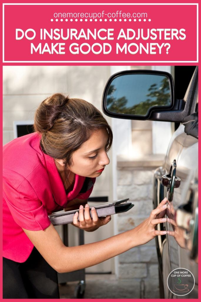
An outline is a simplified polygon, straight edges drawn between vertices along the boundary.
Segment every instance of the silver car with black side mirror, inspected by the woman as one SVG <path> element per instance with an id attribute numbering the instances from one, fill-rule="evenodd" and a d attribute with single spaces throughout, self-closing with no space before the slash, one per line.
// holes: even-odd
<path id="1" fill-rule="evenodd" d="M 160 296 L 198 298 L 198 67 L 182 100 L 167 72 L 118 72 L 105 86 L 102 107 L 110 117 L 180 123 L 153 175 L 153 208 L 168 198 L 168 222 L 157 227 L 175 234 L 156 237 Z"/>

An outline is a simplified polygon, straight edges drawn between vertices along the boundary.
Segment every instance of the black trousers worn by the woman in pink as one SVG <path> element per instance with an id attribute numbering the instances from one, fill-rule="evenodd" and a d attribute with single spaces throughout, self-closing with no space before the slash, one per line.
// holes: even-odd
<path id="1" fill-rule="evenodd" d="M 59 299 L 57 272 L 35 247 L 23 263 L 3 258 L 3 298 Z"/>

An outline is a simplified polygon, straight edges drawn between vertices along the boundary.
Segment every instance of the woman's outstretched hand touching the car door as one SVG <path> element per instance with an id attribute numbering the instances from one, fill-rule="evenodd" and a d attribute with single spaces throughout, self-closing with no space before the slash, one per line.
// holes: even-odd
<path id="1" fill-rule="evenodd" d="M 145 244 L 157 235 L 167 234 L 167 231 L 155 230 L 155 226 L 158 223 L 163 223 L 167 221 L 167 218 L 163 218 L 167 209 L 166 203 L 167 198 L 163 199 L 158 205 L 158 207 L 151 211 L 150 216 L 134 229 L 137 236 L 137 238 L 135 238 L 137 239 L 137 245 Z"/>

